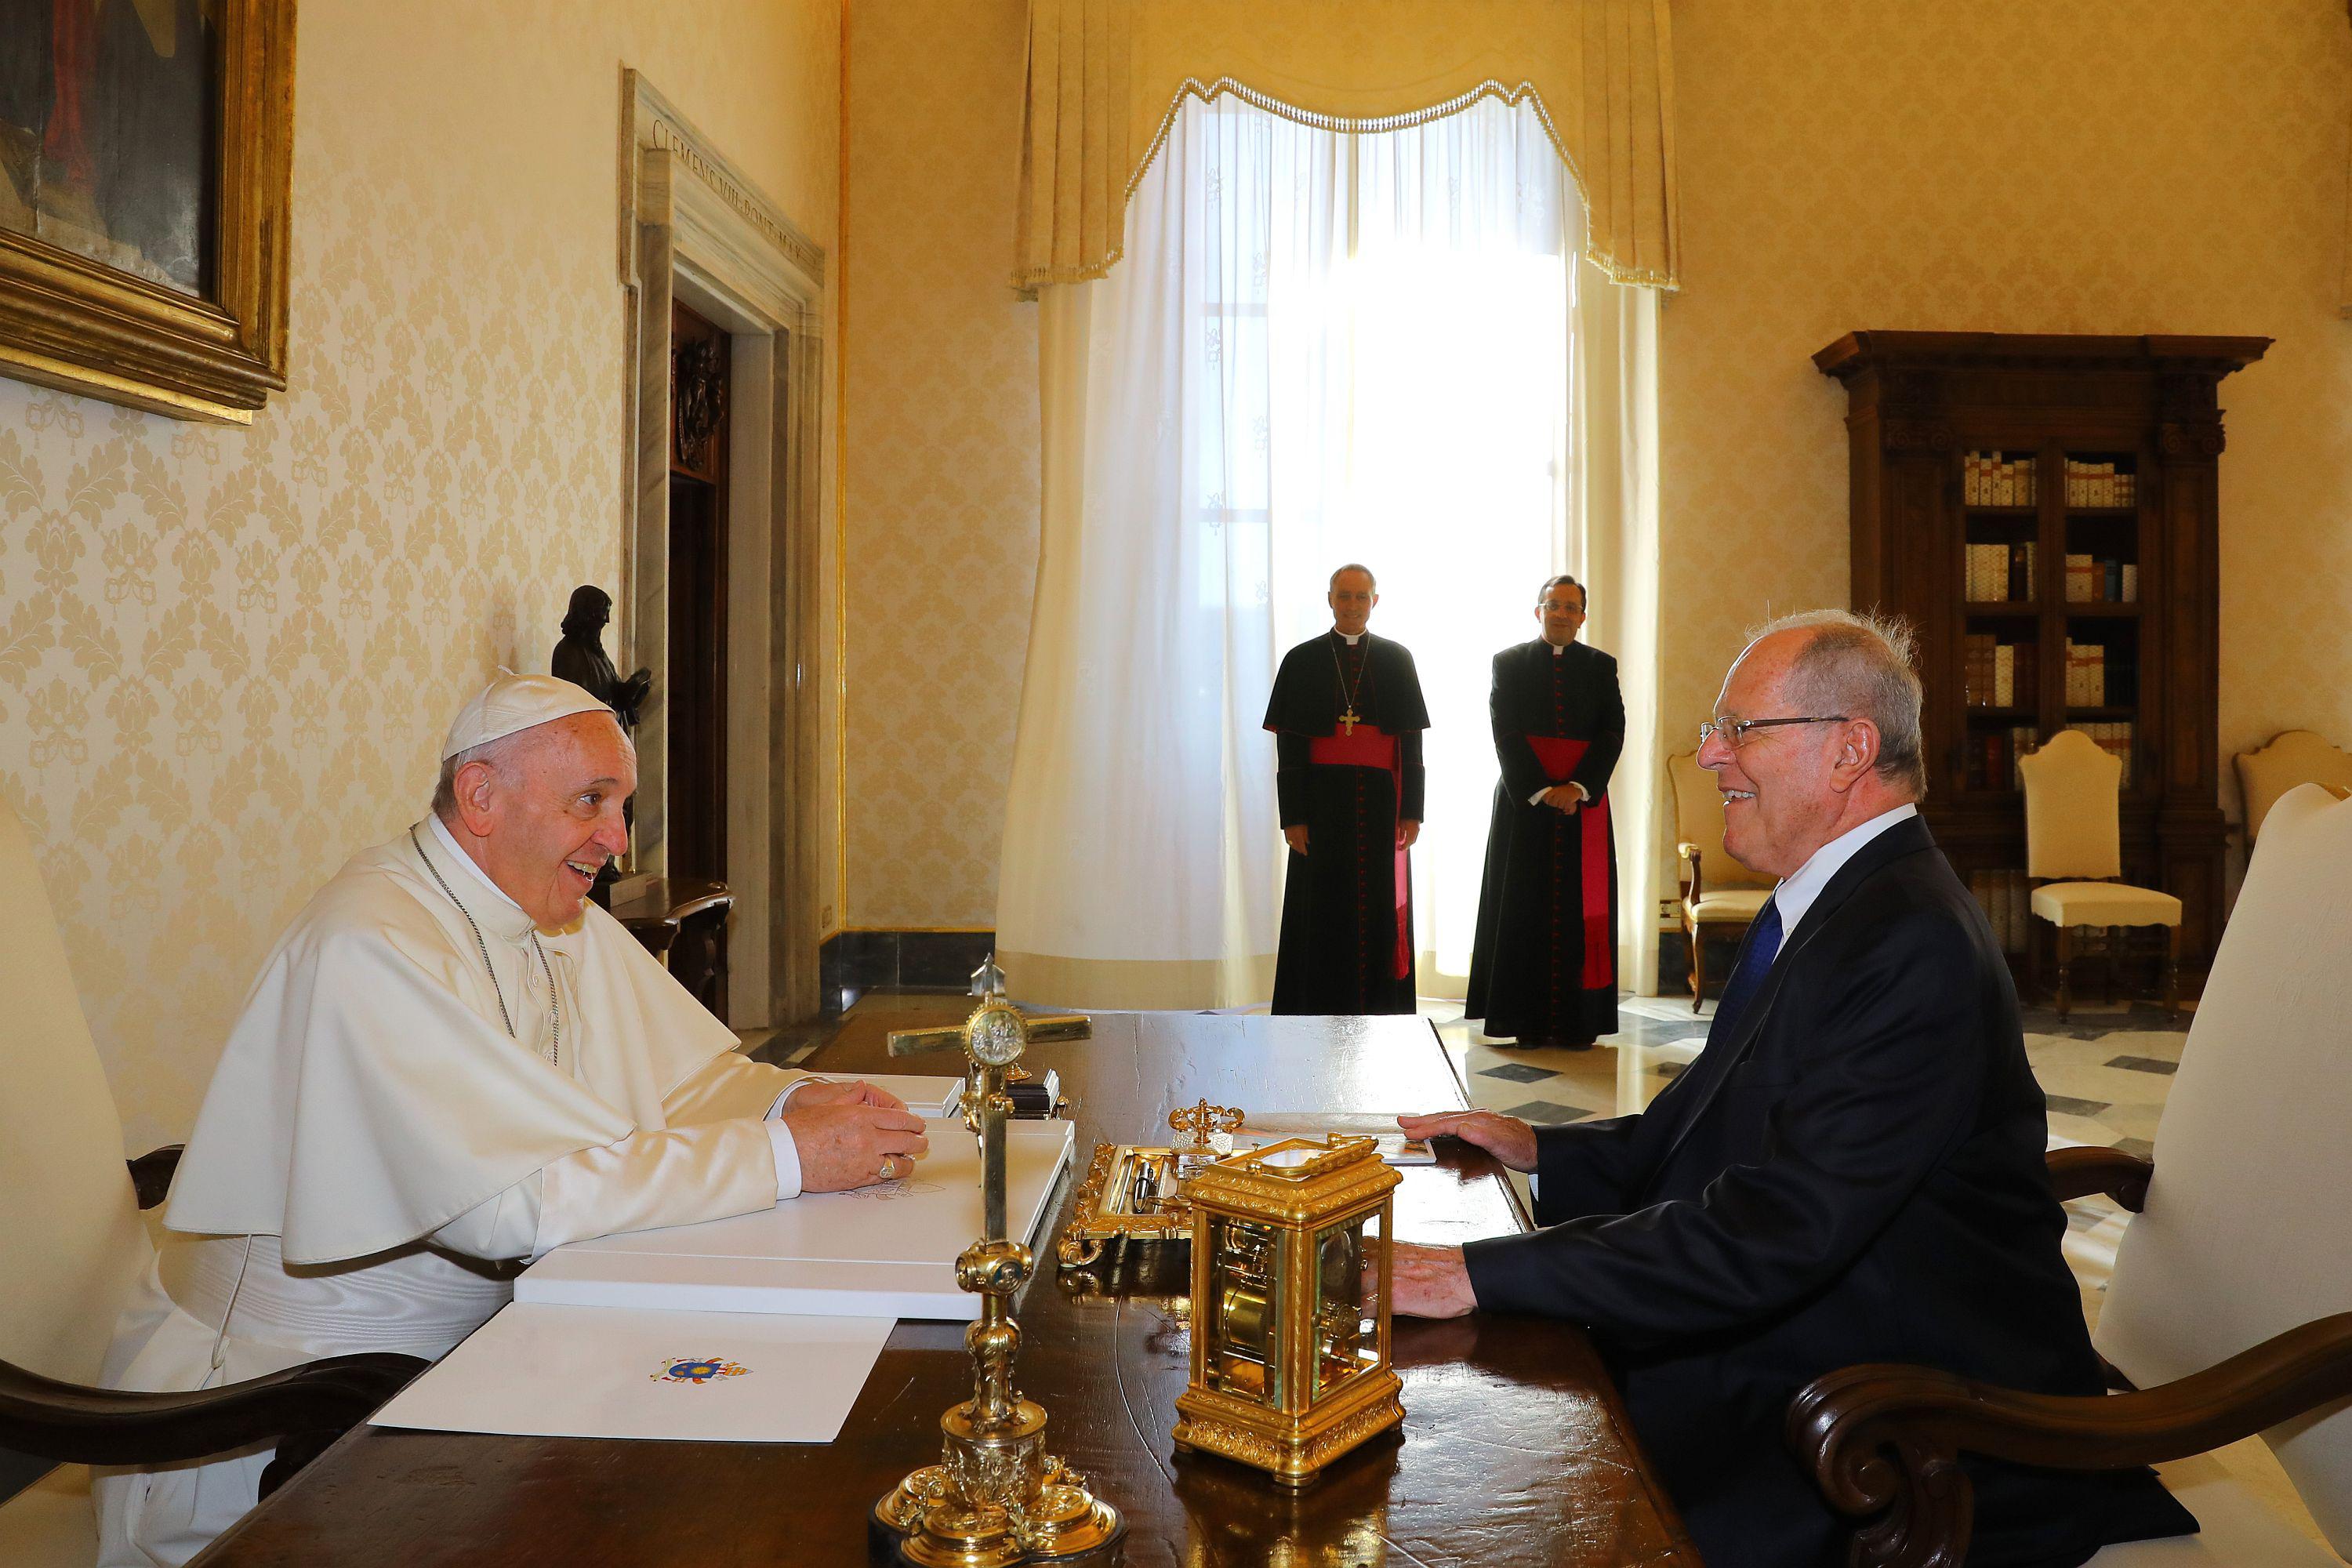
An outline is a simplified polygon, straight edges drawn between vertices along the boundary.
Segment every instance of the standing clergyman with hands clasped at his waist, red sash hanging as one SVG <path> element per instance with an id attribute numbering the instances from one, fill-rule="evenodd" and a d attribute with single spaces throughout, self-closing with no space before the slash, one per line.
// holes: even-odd
<path id="1" fill-rule="evenodd" d="M 1585 590 L 1557 576 L 1543 635 L 1494 656 L 1486 712 L 1503 778 L 1463 1016 L 1522 1046 L 1616 1034 L 1616 835 L 1609 773 L 1625 748 L 1616 658 L 1576 642 Z"/>

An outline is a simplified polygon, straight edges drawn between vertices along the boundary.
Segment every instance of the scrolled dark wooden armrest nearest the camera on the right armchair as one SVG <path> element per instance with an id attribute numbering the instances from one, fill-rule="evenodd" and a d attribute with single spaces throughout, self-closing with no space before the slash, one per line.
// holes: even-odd
<path id="1" fill-rule="evenodd" d="M 1788 1408 L 1788 1441 L 1856 1521 L 1851 1563 L 1959 1568 L 1976 1497 L 1959 1453 L 2049 1469 L 2161 1465 L 2352 1394 L 2352 1312 L 2140 1394 L 2020 1394 L 1924 1366 L 1849 1366 Z"/>

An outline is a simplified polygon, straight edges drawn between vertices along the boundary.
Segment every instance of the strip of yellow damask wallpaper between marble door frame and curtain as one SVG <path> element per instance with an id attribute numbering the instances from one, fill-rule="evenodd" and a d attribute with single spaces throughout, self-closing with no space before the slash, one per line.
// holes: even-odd
<path id="1" fill-rule="evenodd" d="M 849 926 L 993 926 L 1037 576 L 1025 0 L 849 7 Z"/>

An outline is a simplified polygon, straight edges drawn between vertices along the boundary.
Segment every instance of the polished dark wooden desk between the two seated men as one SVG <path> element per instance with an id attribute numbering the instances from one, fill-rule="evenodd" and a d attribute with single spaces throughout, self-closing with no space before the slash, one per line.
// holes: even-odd
<path id="1" fill-rule="evenodd" d="M 882 1048 L 861 1018 L 821 1051 L 833 1072 L 948 1072 Z M 1463 1105 L 1416 1018 L 1120 1013 L 1091 1041 L 1035 1046 L 1096 1143 L 1150 1140 L 1176 1105 L 1258 1112 Z M 1477 1150 L 1406 1168 L 1397 1234 L 1458 1241 L 1522 1229 Z M 1124 1563 L 1578 1563 L 1696 1568 L 1672 1505 L 1632 1446 L 1585 1338 L 1536 1319 L 1397 1321 L 1402 1439 L 1378 1439 L 1303 1495 L 1214 1458 L 1176 1458 L 1185 1328 L 1164 1298 L 1080 1298 L 1054 1274 L 1065 1180 L 1018 1314 L 1021 1389 L 1054 1450 L 1127 1514 Z M 971 1392 L 962 1324 L 898 1324 L 828 1446 L 616 1443 L 358 1427 L 223 1535 L 205 1568 L 296 1563 L 863 1563 L 866 1514 L 938 1458 L 938 1415 Z"/>

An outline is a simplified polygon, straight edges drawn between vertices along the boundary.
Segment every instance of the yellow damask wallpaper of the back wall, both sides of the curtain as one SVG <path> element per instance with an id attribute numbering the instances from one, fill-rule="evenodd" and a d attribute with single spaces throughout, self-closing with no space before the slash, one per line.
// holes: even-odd
<path id="1" fill-rule="evenodd" d="M 851 16 L 858 926 L 995 907 L 1004 771 L 969 743 L 1014 719 L 1037 538 L 1035 322 L 1002 284 L 1021 24 L 1018 0 Z M 2274 336 L 2223 383 L 2220 741 L 2352 745 L 2338 0 L 1677 0 L 1675 71 L 1677 750 L 1750 623 L 1846 602 L 1844 393 L 1811 353 L 1853 327 Z"/>

